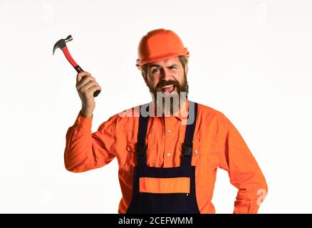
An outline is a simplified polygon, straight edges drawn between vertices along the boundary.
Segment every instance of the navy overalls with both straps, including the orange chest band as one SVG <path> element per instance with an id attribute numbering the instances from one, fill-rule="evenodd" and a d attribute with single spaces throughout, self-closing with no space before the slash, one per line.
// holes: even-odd
<path id="1" fill-rule="evenodd" d="M 194 121 L 192 124 L 187 124 L 180 167 L 147 166 L 145 137 L 149 117 L 142 117 L 140 113 L 136 148 L 137 165 L 133 174 L 132 201 L 126 213 L 200 213 L 195 191 L 195 167 L 191 165 L 197 103 L 189 101 L 189 109 L 191 107 L 194 107 Z"/>

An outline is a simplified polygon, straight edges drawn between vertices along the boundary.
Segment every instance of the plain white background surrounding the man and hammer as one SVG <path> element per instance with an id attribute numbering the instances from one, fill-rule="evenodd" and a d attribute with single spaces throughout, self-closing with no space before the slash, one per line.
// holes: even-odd
<path id="1" fill-rule="evenodd" d="M 0 0 L 0 212 L 116 213 L 118 164 L 66 171 L 65 135 L 80 110 L 76 71 L 103 91 L 93 131 L 147 103 L 135 67 L 147 31 L 175 31 L 190 51 L 189 100 L 227 115 L 269 185 L 259 213 L 311 213 L 312 1 Z M 213 203 L 232 213 L 236 189 L 219 170 Z"/>

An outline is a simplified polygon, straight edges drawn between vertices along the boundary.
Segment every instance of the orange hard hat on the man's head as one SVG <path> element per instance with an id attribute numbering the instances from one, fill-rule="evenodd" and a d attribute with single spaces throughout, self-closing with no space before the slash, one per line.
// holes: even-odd
<path id="1" fill-rule="evenodd" d="M 189 51 L 176 33 L 164 28 L 149 31 L 137 48 L 137 68 L 172 56 L 189 57 Z"/>

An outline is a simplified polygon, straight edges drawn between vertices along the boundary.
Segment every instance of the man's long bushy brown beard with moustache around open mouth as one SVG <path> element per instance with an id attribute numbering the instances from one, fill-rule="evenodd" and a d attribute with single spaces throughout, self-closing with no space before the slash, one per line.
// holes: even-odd
<path id="1" fill-rule="evenodd" d="M 173 93 L 165 93 L 162 91 L 162 86 L 173 85 L 177 88 L 177 91 Z M 187 83 L 187 76 L 184 73 L 184 78 L 180 84 L 178 81 L 159 81 L 155 88 L 153 88 L 150 83 L 148 84 L 150 88 L 150 93 L 152 93 L 152 100 L 157 105 L 157 116 L 165 114 L 177 115 L 177 110 L 182 108 L 185 101 L 187 100 L 187 94 L 189 93 L 189 85 Z M 160 113 L 159 113 L 160 112 Z"/>

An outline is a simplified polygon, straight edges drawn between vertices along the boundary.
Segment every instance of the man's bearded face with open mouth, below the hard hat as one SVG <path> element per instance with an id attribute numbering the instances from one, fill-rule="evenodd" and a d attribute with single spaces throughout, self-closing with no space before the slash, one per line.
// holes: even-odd
<path id="1" fill-rule="evenodd" d="M 153 99 L 165 113 L 175 113 L 187 98 L 187 71 L 188 66 L 186 65 L 184 69 L 179 56 L 174 56 L 149 63 L 147 75 L 143 73 L 142 76 L 150 88 Z"/>

